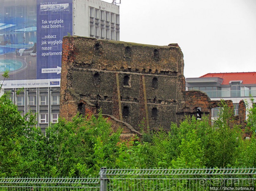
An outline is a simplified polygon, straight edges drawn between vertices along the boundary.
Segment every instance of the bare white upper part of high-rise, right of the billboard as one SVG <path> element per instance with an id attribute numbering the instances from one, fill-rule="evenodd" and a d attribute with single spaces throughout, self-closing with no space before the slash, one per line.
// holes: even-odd
<path id="1" fill-rule="evenodd" d="M 73 35 L 119 40 L 119 6 L 98 0 L 75 0 Z"/>

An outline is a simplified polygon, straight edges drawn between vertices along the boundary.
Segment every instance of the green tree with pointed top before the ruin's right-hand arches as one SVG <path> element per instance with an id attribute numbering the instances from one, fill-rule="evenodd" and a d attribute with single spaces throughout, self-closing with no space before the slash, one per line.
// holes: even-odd
<path id="1" fill-rule="evenodd" d="M 238 156 L 238 148 L 241 143 L 242 132 L 237 126 L 230 127 L 233 120 L 233 110 L 221 100 L 220 116 L 214 121 L 214 131 L 208 135 L 206 145 L 206 156 L 208 167 L 233 166 L 235 158 Z"/>

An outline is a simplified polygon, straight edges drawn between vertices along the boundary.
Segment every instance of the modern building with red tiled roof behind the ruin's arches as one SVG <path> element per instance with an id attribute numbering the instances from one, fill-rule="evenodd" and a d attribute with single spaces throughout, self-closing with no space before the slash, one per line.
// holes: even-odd
<path id="1" fill-rule="evenodd" d="M 208 73 L 199 78 L 187 78 L 186 90 L 200 90 L 207 93 L 211 100 L 232 100 L 234 115 L 238 115 L 240 100 L 256 100 L 256 72 Z M 212 118 L 219 116 L 220 108 L 212 109 Z"/>

